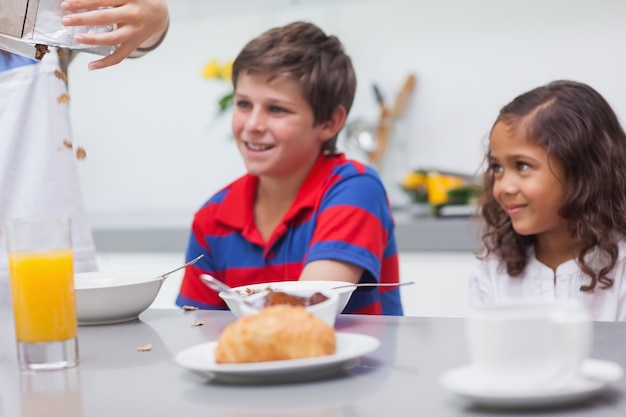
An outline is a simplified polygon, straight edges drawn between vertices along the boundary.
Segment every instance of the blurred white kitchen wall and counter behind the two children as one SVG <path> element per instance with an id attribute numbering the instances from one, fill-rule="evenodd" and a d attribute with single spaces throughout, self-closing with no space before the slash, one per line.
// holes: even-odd
<path id="1" fill-rule="evenodd" d="M 337 35 L 352 57 L 358 89 L 351 127 L 379 126 L 381 100 L 393 106 L 407 77 L 415 77 L 379 162 L 397 209 L 403 280 L 421 284 L 403 290 L 411 315 L 464 314 L 479 239 L 467 217 L 406 210 L 404 174 L 427 168 L 474 177 L 500 107 L 554 79 L 588 83 L 618 115 L 626 113 L 623 0 L 172 0 L 169 6 L 170 31 L 156 51 L 94 72 L 86 67 L 95 57 L 82 54 L 70 67 L 74 144 L 87 151 L 78 166 L 102 268 L 141 267 L 157 258 L 182 262 L 194 211 L 244 172 L 228 115 L 215 117 L 230 85 L 204 78 L 203 68 L 212 59 L 232 60 L 253 37 L 294 20 Z M 342 134 L 341 148 L 367 161 L 362 144 L 348 136 Z M 163 297 L 168 303 L 171 295 Z"/>

